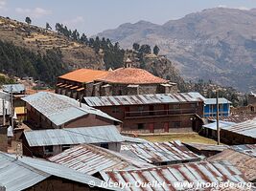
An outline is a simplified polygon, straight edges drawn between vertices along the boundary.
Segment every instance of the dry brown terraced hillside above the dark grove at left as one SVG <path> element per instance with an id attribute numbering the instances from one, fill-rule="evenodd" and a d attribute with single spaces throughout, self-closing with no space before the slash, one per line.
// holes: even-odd
<path id="1" fill-rule="evenodd" d="M 12 42 L 13 45 L 29 49 L 34 53 L 46 53 L 47 50 L 59 48 L 63 62 L 70 69 L 105 68 L 102 57 L 88 46 L 71 41 L 58 32 L 27 25 L 10 18 L 0 17 L 0 40 Z"/>

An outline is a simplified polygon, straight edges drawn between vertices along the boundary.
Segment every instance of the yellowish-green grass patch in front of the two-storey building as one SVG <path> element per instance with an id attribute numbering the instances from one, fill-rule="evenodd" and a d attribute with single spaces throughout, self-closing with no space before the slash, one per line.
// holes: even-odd
<path id="1" fill-rule="evenodd" d="M 139 136 L 139 138 L 147 139 L 151 142 L 163 142 L 163 141 L 172 141 L 172 140 L 180 140 L 181 142 L 197 142 L 204 144 L 217 144 L 217 141 L 204 138 L 199 136 L 196 133 L 184 133 L 184 134 L 171 134 L 171 135 L 154 135 L 154 136 Z"/>

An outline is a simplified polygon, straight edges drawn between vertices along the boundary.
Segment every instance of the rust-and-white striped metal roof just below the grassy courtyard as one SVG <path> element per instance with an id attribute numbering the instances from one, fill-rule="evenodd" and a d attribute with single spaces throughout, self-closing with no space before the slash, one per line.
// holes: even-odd
<path id="1" fill-rule="evenodd" d="M 199 160 L 198 155 L 190 151 L 180 141 L 122 145 L 121 153 L 144 159 L 153 164 Z"/>

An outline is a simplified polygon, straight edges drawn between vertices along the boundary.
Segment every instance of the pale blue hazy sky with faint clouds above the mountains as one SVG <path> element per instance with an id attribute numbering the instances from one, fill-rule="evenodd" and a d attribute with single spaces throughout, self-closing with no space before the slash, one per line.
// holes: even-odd
<path id="1" fill-rule="evenodd" d="M 164 24 L 188 13 L 225 7 L 242 10 L 256 8 L 256 0 L 0 0 L 0 15 L 55 29 L 63 23 L 87 36 L 115 29 L 140 20 Z"/>

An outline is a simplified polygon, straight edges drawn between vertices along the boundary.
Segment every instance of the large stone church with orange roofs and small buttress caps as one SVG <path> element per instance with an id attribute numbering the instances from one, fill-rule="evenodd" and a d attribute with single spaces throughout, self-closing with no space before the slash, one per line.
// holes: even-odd
<path id="1" fill-rule="evenodd" d="M 127 96 L 176 93 L 176 84 L 138 68 L 114 71 L 80 69 L 58 77 L 56 93 L 83 96 Z"/>

